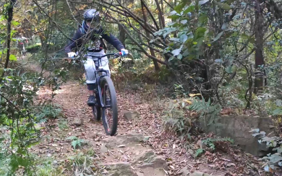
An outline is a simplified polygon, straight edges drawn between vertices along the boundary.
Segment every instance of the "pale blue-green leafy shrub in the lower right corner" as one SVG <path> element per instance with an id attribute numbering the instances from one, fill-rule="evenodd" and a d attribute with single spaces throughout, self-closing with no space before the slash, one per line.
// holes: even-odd
<path id="1" fill-rule="evenodd" d="M 252 136 L 258 137 L 258 143 L 266 144 L 267 147 L 273 148 L 272 151 L 275 153 L 269 153 L 267 156 L 260 158 L 258 160 L 264 161 L 263 167 L 266 172 L 270 172 L 270 169 L 275 170 L 282 167 L 282 138 L 278 136 L 268 137 L 264 131 L 259 131 L 259 129 L 252 129 Z M 277 165 L 279 167 L 277 167 Z"/>

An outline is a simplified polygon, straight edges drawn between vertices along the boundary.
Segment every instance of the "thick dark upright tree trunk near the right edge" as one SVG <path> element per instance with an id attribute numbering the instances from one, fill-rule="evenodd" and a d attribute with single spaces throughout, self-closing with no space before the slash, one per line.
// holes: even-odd
<path id="1" fill-rule="evenodd" d="M 262 0 L 257 1 L 257 9 L 255 12 L 255 38 L 256 38 L 256 49 L 255 49 L 255 80 L 254 80 L 254 94 L 263 90 L 263 72 L 261 72 L 260 66 L 264 65 L 263 57 L 263 8 L 261 7 Z"/>

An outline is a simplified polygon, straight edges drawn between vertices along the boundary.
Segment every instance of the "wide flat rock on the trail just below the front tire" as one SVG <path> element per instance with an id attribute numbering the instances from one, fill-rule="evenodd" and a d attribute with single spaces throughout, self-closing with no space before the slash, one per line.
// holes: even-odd
<path id="1" fill-rule="evenodd" d="M 105 139 L 102 139 L 102 142 L 107 148 L 113 148 L 119 145 L 135 145 L 139 144 L 144 139 L 144 136 L 139 133 L 127 133 L 120 136 L 111 136 Z"/>

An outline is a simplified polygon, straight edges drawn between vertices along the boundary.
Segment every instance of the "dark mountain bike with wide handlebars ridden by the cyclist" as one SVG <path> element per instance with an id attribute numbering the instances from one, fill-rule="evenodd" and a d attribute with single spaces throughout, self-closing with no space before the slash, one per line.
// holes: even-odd
<path id="1" fill-rule="evenodd" d="M 84 55 L 84 57 L 92 57 L 98 59 L 98 68 L 95 70 L 96 78 L 96 104 L 92 106 L 92 111 L 95 120 L 101 120 L 107 135 L 115 135 L 118 128 L 118 106 L 115 87 L 113 81 L 109 76 L 109 71 L 102 69 L 101 59 L 106 56 L 114 56 L 117 58 L 121 56 L 121 52 L 109 53 L 101 56 Z M 108 58 L 109 59 L 109 58 Z M 77 59 L 80 60 L 81 59 Z M 106 75 L 102 73 L 105 72 Z M 110 126 L 110 124 L 112 124 Z"/>

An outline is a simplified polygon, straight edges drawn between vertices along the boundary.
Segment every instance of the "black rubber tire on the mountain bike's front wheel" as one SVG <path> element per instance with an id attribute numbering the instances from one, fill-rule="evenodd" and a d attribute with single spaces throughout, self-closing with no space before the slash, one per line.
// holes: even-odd
<path id="1" fill-rule="evenodd" d="M 113 125 L 112 125 L 111 129 L 108 128 L 108 123 L 107 123 L 107 119 L 106 119 L 106 108 L 102 108 L 102 111 L 101 111 L 102 122 L 103 122 L 103 126 L 104 126 L 106 134 L 113 136 L 117 132 L 117 128 L 118 128 L 117 96 L 116 96 L 116 92 L 115 92 L 115 87 L 113 85 L 113 81 L 111 80 L 110 77 L 105 76 L 101 79 L 101 81 L 100 81 L 101 88 L 103 88 L 105 86 L 105 84 L 108 84 L 108 89 L 110 91 L 111 110 L 113 111 L 113 113 L 112 113 Z M 102 93 L 104 94 L 105 91 L 102 92 Z M 104 97 L 103 94 L 102 94 L 102 99 Z M 105 104 L 105 101 L 104 101 L 104 104 Z"/>

